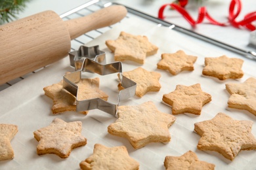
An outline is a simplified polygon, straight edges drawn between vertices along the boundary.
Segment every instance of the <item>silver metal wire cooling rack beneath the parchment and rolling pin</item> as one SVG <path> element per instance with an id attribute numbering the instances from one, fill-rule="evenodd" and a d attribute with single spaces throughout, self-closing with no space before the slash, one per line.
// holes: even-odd
<path id="1" fill-rule="evenodd" d="M 100 0 L 92 0 L 89 1 L 75 9 L 69 10 L 68 12 L 65 12 L 64 14 L 60 15 L 60 18 L 62 18 L 62 20 L 70 20 L 73 18 L 78 18 L 81 16 L 87 16 L 93 12 L 95 12 L 96 10 L 102 9 L 104 7 L 108 7 L 110 5 L 122 5 L 119 3 L 105 3 L 103 4 Z M 125 6 L 126 7 L 126 6 Z M 195 37 L 196 39 L 200 39 L 202 41 L 205 42 L 209 42 L 210 44 L 214 44 L 216 46 L 219 46 L 221 48 L 224 48 L 226 50 L 229 50 L 231 52 L 235 52 L 236 54 L 240 54 L 246 58 L 250 58 L 253 60 L 256 60 L 256 51 L 248 51 L 248 50 L 243 50 L 240 48 L 237 48 L 236 46 L 231 46 L 230 44 L 226 44 L 224 42 L 221 41 L 217 41 L 215 39 L 211 39 L 209 37 L 206 37 L 204 35 L 200 35 L 194 31 L 191 31 L 190 29 L 185 29 L 183 27 L 179 27 L 177 25 L 171 24 L 170 22 L 166 22 L 164 20 L 160 20 L 154 16 L 150 16 L 148 14 L 145 14 L 143 12 L 140 12 L 139 10 L 135 10 L 132 9 L 130 7 L 126 7 L 128 10 L 128 14 L 126 16 L 126 18 L 129 18 L 129 15 L 134 14 L 136 16 L 140 16 L 148 21 L 154 22 L 156 23 L 156 25 L 162 25 L 165 27 L 169 27 L 170 29 L 174 29 L 175 31 L 179 31 L 181 33 L 184 33 L 186 35 L 190 35 L 192 37 Z M 125 20 L 126 18 L 124 18 L 123 20 Z M 122 20 L 122 21 L 123 21 Z M 114 25 L 112 25 L 114 26 Z M 106 31 L 112 29 L 112 26 L 109 27 L 104 27 L 101 29 L 96 29 L 93 31 L 89 31 L 88 33 L 85 33 L 84 35 L 81 35 L 80 37 L 77 37 L 77 39 L 74 39 L 71 41 L 71 50 L 77 50 L 79 48 L 79 46 L 81 46 L 82 44 L 86 44 L 89 41 L 92 41 L 93 39 L 95 39 L 96 37 L 98 37 L 99 35 L 102 35 L 103 33 L 105 33 Z M 41 68 L 43 69 L 43 68 Z M 32 73 L 29 73 L 27 75 L 21 76 L 19 78 L 16 78 L 14 80 L 11 80 L 5 84 L 1 84 L 0 85 L 0 91 L 4 90 L 5 88 L 8 88 L 9 86 L 12 86 L 13 84 L 15 84 L 16 82 L 19 82 L 20 80 L 23 80 L 24 78 L 32 75 L 33 73 L 36 73 L 37 71 L 40 71 L 41 69 L 37 69 L 36 71 L 33 71 Z"/>

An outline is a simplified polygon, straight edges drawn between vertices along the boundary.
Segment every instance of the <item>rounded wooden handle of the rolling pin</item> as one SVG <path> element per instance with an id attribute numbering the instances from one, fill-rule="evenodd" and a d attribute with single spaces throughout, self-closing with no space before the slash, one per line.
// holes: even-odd
<path id="1" fill-rule="evenodd" d="M 93 12 L 88 16 L 65 21 L 70 38 L 75 39 L 84 33 L 116 24 L 127 14 L 127 9 L 121 5 L 112 5 Z"/>

